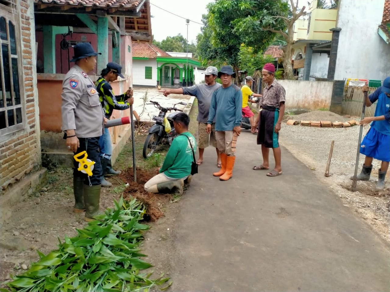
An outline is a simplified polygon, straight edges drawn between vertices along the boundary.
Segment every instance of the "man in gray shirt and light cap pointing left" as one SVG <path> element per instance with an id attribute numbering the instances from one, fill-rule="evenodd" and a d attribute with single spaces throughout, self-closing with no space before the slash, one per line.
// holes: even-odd
<path id="1" fill-rule="evenodd" d="M 216 138 L 215 138 L 215 120 L 212 125 L 211 133 L 207 134 L 207 118 L 209 117 L 210 102 L 211 97 L 213 97 L 213 92 L 221 86 L 221 84 L 216 83 L 215 79 L 218 75 L 218 69 L 213 66 L 207 67 L 204 71 L 204 83 L 195 84 L 189 87 L 181 87 L 177 89 L 167 89 L 161 90 L 165 96 L 174 94 L 185 94 L 195 96 L 198 99 L 198 147 L 199 147 L 199 159 L 197 164 L 200 165 L 203 163 L 203 153 L 204 148 L 211 145 L 215 147 L 217 153 L 217 167 L 221 167 L 221 157 L 218 151 Z"/>

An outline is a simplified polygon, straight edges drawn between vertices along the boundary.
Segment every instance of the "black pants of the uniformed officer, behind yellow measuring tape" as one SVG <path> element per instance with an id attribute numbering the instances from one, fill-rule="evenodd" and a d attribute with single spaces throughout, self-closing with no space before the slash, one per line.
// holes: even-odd
<path id="1" fill-rule="evenodd" d="M 77 148 L 76 153 L 80 153 L 82 151 L 87 151 L 88 159 L 95 162 L 94 169 L 92 170 L 92 176 L 88 176 L 88 174 L 78 171 L 78 162 L 73 158 L 73 176 L 78 176 L 80 178 L 84 178 L 85 185 L 100 185 L 100 177 L 102 175 L 102 168 L 100 163 L 99 156 L 99 137 L 94 138 L 78 138 L 80 141 L 80 147 Z M 76 154 L 74 153 L 74 154 Z"/>

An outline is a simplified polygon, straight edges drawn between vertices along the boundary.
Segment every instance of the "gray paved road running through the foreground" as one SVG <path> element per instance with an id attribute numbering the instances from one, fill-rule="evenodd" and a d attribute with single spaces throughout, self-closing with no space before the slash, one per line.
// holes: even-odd
<path id="1" fill-rule="evenodd" d="M 388 246 L 285 149 L 282 176 L 253 171 L 254 141 L 240 135 L 227 182 L 206 149 L 174 226 L 171 290 L 389 291 Z"/>

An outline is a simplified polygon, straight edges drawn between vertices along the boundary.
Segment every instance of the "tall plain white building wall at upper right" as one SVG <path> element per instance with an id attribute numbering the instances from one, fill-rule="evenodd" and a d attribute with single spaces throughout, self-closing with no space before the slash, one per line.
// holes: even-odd
<path id="1" fill-rule="evenodd" d="M 390 46 L 378 35 L 385 0 L 341 0 L 335 80 L 383 80 L 390 75 Z"/>

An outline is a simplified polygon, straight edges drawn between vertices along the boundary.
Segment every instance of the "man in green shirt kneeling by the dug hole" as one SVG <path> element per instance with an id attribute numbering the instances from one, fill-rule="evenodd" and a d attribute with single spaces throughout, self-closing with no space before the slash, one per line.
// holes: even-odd
<path id="1" fill-rule="evenodd" d="M 173 118 L 173 124 L 179 135 L 172 141 L 158 174 L 145 183 L 147 192 L 182 195 L 184 180 L 191 175 L 193 162 L 191 146 L 196 152 L 196 143 L 193 135 L 188 132 L 190 117 L 185 113 L 178 113 Z"/>

